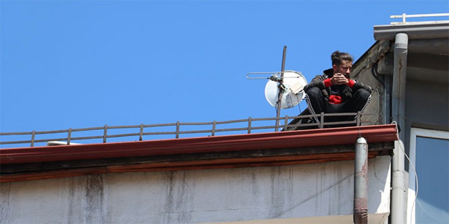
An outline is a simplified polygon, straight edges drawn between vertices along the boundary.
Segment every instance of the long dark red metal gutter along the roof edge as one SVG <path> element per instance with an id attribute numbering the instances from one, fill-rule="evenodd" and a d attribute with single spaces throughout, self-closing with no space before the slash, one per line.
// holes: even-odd
<path id="1" fill-rule="evenodd" d="M 256 149 L 354 144 L 363 136 L 369 143 L 397 139 L 395 125 L 313 129 L 270 133 L 165 139 L 124 143 L 0 149 L 0 163 L 29 163 Z"/>

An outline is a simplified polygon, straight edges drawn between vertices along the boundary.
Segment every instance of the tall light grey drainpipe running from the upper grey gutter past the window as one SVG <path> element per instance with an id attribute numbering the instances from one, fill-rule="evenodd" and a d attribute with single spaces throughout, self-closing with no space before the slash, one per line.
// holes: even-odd
<path id="1" fill-rule="evenodd" d="M 408 35 L 396 34 L 394 42 L 393 92 L 391 99 L 392 119 L 402 131 L 399 140 L 394 143 L 394 155 L 391 159 L 391 223 L 406 223 L 405 203 L 405 170 L 404 144 L 405 138 L 405 88 L 407 69 Z M 402 149 L 401 149 L 402 147 Z"/>

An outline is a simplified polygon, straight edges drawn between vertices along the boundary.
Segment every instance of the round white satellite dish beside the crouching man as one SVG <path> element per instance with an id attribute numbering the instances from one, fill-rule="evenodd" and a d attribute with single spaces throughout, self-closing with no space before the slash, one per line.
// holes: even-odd
<path id="1" fill-rule="evenodd" d="M 280 78 L 281 73 L 276 73 L 273 76 Z M 276 107 L 276 103 L 278 102 L 279 85 L 281 84 L 270 79 L 265 86 L 265 98 L 274 107 Z M 306 96 L 303 91 L 306 85 L 307 80 L 301 72 L 285 71 L 281 86 L 284 90 L 282 93 L 281 108 L 287 109 L 298 105 Z"/>

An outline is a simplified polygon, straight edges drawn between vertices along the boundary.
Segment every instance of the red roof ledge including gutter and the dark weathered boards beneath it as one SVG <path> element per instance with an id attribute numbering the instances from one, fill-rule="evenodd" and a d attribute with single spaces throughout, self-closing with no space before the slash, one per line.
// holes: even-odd
<path id="1" fill-rule="evenodd" d="M 92 174 L 229 169 L 349 160 L 359 136 L 368 157 L 392 153 L 395 125 L 313 129 L 128 143 L 1 149 L 0 182 Z"/>

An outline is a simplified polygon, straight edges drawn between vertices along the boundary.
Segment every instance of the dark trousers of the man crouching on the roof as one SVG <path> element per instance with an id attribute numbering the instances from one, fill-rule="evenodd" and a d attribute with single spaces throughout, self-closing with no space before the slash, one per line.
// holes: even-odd
<path id="1" fill-rule="evenodd" d="M 340 104 L 331 104 L 324 97 L 317 87 L 310 88 L 307 92 L 306 101 L 312 114 L 324 113 L 357 113 L 363 111 L 369 102 L 370 93 L 365 89 L 358 89 L 353 93 L 353 97 Z M 354 117 L 325 117 L 325 122 L 354 120 Z"/>

